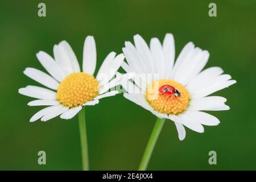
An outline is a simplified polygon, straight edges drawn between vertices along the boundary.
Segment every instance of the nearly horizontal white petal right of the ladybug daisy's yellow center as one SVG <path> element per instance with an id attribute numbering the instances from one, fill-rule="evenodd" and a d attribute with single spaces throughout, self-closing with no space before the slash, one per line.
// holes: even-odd
<path id="1" fill-rule="evenodd" d="M 189 102 L 187 110 L 209 110 L 221 107 L 226 102 L 226 98 L 219 96 L 209 96 L 203 98 L 195 98 Z"/>

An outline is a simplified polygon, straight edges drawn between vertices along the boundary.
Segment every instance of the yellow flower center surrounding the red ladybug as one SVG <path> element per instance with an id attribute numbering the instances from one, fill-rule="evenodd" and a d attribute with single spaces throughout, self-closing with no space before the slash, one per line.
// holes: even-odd
<path id="1" fill-rule="evenodd" d="M 171 85 L 180 92 L 180 96 L 175 94 L 167 95 L 159 92 L 159 88 L 163 85 Z M 190 95 L 188 90 L 174 80 L 158 80 L 153 81 L 147 87 L 146 100 L 159 113 L 179 114 L 188 107 Z"/>

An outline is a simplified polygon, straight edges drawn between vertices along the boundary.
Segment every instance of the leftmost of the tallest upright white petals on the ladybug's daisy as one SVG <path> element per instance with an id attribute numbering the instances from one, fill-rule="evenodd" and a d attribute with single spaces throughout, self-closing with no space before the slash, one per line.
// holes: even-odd
<path id="1" fill-rule="evenodd" d="M 141 35 L 138 34 L 134 35 L 133 39 L 137 51 L 141 54 L 143 60 L 146 64 L 148 64 L 149 68 L 151 69 L 150 73 L 154 73 L 154 61 L 152 59 L 152 55 L 150 49 L 147 46 L 147 43 L 141 37 Z"/>

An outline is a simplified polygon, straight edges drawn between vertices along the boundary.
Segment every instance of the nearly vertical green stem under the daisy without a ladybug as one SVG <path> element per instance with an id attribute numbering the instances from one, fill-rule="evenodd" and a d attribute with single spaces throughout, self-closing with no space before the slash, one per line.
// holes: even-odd
<path id="1" fill-rule="evenodd" d="M 88 160 L 88 144 L 86 137 L 86 125 L 85 125 L 85 109 L 79 112 L 79 130 L 80 130 L 80 142 L 81 142 L 81 154 L 82 154 L 82 170 L 89 170 Z"/>

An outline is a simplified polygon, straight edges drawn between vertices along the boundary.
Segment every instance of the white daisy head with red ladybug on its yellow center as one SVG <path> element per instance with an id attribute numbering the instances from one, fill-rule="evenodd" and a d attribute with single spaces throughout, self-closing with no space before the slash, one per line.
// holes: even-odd
<path id="1" fill-rule="evenodd" d="M 135 46 L 125 42 L 123 48 L 127 63 L 123 62 L 122 68 L 137 73 L 133 82 L 122 83 L 127 90 L 125 98 L 158 118 L 174 121 L 180 140 L 185 138 L 184 126 L 203 133 L 202 125 L 220 123 L 218 118 L 202 110 L 229 110 L 226 98 L 209 95 L 235 84 L 236 80 L 222 74 L 224 71 L 220 67 L 202 71 L 209 58 L 208 51 L 189 42 L 174 63 L 172 34 L 166 34 L 163 44 L 158 38 L 152 38 L 148 47 L 140 35 L 134 36 L 134 43 Z"/>

